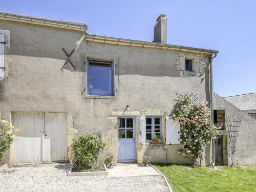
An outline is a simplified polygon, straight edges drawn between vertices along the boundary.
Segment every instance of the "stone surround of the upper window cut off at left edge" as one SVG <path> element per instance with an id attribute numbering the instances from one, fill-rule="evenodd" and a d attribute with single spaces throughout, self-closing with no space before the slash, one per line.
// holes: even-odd
<path id="1" fill-rule="evenodd" d="M 5 77 L 8 76 L 9 72 L 9 62 L 12 61 L 12 58 L 10 57 L 10 31 L 9 30 L 4 30 L 0 29 L 0 34 L 4 34 L 5 36 Z M 3 78 L 0 78 L 0 80 Z"/>

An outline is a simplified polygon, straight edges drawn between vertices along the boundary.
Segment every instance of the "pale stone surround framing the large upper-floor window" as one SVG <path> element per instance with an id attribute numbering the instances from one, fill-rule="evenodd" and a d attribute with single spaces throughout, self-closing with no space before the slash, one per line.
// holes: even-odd
<path id="1" fill-rule="evenodd" d="M 108 53 L 100 53 L 100 52 L 89 52 L 86 51 L 84 55 L 84 63 L 85 63 L 85 77 L 83 78 L 84 91 L 83 97 L 89 99 L 117 99 L 118 98 L 118 55 L 108 54 Z M 113 61 L 114 67 L 114 96 L 100 96 L 100 95 L 88 95 L 87 94 L 87 60 L 88 59 L 100 59 L 106 61 Z"/>

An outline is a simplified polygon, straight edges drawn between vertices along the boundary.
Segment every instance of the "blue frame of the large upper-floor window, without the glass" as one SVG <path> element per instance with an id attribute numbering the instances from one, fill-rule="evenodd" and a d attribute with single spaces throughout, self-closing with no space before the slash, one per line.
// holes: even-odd
<path id="1" fill-rule="evenodd" d="M 111 65 L 111 94 L 105 94 L 105 93 L 89 93 L 89 77 L 90 77 L 90 61 L 98 62 L 98 63 L 109 63 Z M 110 60 L 102 60 L 102 59 L 87 59 L 87 95 L 88 96 L 115 96 L 115 66 L 114 66 L 114 61 Z"/>

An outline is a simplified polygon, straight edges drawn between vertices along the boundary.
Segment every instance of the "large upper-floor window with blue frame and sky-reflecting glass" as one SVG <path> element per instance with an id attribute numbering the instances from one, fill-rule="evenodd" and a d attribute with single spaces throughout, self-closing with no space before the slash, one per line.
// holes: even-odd
<path id="1" fill-rule="evenodd" d="M 112 61 L 87 60 L 87 94 L 114 96 L 114 66 Z"/>

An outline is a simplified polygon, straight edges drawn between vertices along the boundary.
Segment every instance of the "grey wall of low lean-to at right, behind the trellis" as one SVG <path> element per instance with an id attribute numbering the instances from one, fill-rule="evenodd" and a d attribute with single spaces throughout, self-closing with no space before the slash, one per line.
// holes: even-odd
<path id="1" fill-rule="evenodd" d="M 225 116 L 236 116 L 242 113 L 236 106 L 229 103 L 224 98 L 214 94 L 214 109 L 224 109 Z M 226 119 L 227 120 L 227 119 Z M 227 129 L 227 127 L 226 127 Z M 230 140 L 227 138 L 228 165 L 236 164 L 237 160 L 240 165 L 255 166 L 256 165 L 256 120 L 251 116 L 244 114 L 238 132 L 236 152 L 232 155 L 230 148 Z M 231 161 L 233 158 L 233 162 Z"/>

